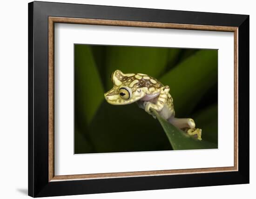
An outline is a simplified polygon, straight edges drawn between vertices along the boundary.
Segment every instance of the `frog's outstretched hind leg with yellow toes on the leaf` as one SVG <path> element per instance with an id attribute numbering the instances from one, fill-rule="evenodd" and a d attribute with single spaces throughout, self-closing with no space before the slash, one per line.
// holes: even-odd
<path id="1" fill-rule="evenodd" d="M 168 121 L 176 126 L 177 128 L 187 128 L 187 133 L 189 135 L 197 135 L 197 139 L 202 140 L 202 129 L 195 128 L 195 121 L 191 118 L 175 118 L 171 117 Z"/>

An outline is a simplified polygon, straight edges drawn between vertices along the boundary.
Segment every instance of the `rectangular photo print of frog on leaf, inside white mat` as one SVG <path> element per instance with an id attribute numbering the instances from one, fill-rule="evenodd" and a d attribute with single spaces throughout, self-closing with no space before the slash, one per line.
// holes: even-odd
<path id="1" fill-rule="evenodd" d="M 74 44 L 74 153 L 218 147 L 218 51 Z"/>

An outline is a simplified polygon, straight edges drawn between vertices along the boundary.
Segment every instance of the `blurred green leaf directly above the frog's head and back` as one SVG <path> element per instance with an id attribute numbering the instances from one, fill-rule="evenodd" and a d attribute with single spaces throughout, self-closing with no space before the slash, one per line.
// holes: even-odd
<path id="1" fill-rule="evenodd" d="M 109 77 L 116 69 L 123 73 L 145 73 L 158 78 L 168 62 L 168 48 L 107 46 L 106 53 L 108 89 L 113 87 Z"/>

